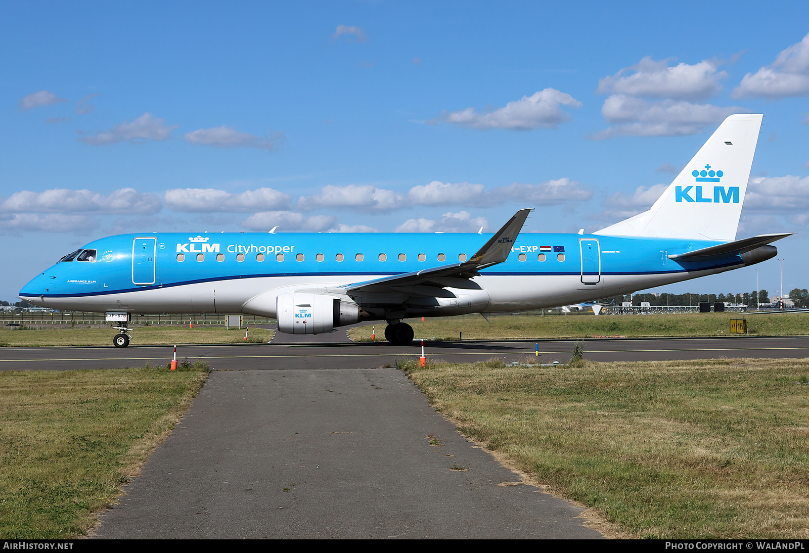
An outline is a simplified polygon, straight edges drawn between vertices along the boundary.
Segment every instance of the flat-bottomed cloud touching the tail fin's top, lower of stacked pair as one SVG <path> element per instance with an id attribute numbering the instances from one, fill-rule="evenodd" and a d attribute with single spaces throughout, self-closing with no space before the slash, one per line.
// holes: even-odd
<path id="1" fill-rule="evenodd" d="M 649 102 L 633 96 L 616 94 L 604 100 L 601 115 L 608 127 L 592 138 L 612 137 L 680 137 L 704 132 L 733 113 L 750 113 L 745 108 L 723 108 L 709 103 L 690 103 L 666 99 Z"/>

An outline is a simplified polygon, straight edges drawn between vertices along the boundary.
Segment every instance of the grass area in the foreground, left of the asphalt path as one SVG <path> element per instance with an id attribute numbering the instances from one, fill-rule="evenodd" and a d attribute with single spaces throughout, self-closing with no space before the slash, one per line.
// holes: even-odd
<path id="1" fill-rule="evenodd" d="M 207 366 L 0 372 L 0 538 L 74 538 L 116 503 Z"/>

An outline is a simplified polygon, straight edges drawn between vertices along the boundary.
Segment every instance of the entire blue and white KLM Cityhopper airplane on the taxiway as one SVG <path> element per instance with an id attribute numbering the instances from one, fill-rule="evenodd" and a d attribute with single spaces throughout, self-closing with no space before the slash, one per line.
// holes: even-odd
<path id="1" fill-rule="evenodd" d="M 651 209 L 593 234 L 519 234 L 521 209 L 480 234 L 123 234 L 63 257 L 19 293 L 36 306 L 133 313 L 244 313 L 320 334 L 385 320 L 590 302 L 745 267 L 790 234 L 736 240 L 760 115 L 728 117 Z"/>

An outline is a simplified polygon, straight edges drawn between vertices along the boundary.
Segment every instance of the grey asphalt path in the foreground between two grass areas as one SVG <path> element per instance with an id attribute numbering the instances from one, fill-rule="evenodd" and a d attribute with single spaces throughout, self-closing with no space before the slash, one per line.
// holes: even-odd
<path id="1" fill-rule="evenodd" d="M 125 492 L 98 538 L 600 537 L 396 369 L 214 372 Z"/>

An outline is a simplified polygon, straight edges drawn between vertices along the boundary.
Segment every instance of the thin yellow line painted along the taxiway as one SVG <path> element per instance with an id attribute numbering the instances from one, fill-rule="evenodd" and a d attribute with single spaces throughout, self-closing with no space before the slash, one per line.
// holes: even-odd
<path id="1" fill-rule="evenodd" d="M 805 348 L 703 348 L 691 349 L 692 352 L 743 352 L 743 351 L 770 351 L 770 350 L 804 350 Z M 432 356 L 450 356 L 450 355 L 525 355 L 527 353 L 534 353 L 536 350 L 526 349 L 524 352 L 428 352 Z M 591 349 L 585 353 L 648 353 L 648 352 L 683 352 L 684 349 Z M 558 350 L 553 352 L 540 352 L 540 355 L 549 355 L 551 353 L 570 353 L 567 350 Z M 418 352 L 388 352 L 388 353 L 341 353 L 339 355 L 203 355 L 194 357 L 194 359 L 294 359 L 299 357 L 386 357 L 391 355 L 413 355 L 417 356 Z M 0 362 L 36 362 L 36 361 L 152 361 L 155 359 L 168 359 L 168 357 L 79 357 L 79 358 L 64 358 L 64 359 L 0 359 Z"/>

